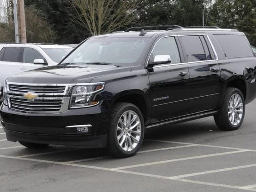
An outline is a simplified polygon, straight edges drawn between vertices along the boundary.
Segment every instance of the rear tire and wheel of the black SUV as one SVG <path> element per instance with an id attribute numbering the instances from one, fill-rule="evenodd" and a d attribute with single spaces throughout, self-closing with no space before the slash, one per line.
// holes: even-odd
<path id="1" fill-rule="evenodd" d="M 234 100 L 231 101 L 232 99 Z M 236 104 L 241 107 L 236 107 Z M 244 116 L 245 101 L 242 92 L 236 88 L 227 88 L 220 111 L 214 116 L 216 125 L 221 130 L 234 131 L 242 125 Z"/>

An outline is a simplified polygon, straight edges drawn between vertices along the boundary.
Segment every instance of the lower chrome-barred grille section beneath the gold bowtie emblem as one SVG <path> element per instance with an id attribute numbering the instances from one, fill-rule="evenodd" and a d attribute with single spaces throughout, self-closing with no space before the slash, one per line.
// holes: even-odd
<path id="1" fill-rule="evenodd" d="M 59 111 L 63 100 L 57 99 L 35 99 L 27 101 L 27 99 L 10 98 L 10 104 L 13 109 L 41 112 L 41 111 Z"/>

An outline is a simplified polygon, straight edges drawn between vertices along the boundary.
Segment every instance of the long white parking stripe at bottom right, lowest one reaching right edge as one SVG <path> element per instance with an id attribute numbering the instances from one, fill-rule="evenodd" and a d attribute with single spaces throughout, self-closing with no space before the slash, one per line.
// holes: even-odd
<path id="1" fill-rule="evenodd" d="M 224 171 L 232 171 L 232 170 L 237 170 L 237 169 L 245 169 L 245 168 L 250 168 L 250 167 L 256 167 L 256 164 L 248 164 L 248 165 L 242 165 L 242 166 L 237 166 L 237 167 L 230 167 L 230 168 L 216 169 L 216 170 L 211 170 L 211 171 L 203 171 L 203 172 L 198 172 L 198 173 L 190 173 L 190 174 L 184 174 L 184 175 L 177 175 L 177 176 L 170 177 L 170 179 L 187 178 L 187 177 L 193 177 L 193 176 L 198 176 L 198 175 L 205 175 L 205 174 L 210 174 L 210 173 L 219 173 L 219 172 L 224 172 Z M 253 187 L 251 187 L 251 188 L 253 188 Z"/>

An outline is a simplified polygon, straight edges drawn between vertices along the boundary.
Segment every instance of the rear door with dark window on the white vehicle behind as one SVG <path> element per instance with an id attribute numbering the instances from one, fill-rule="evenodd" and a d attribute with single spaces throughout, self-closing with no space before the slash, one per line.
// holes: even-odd
<path id="1" fill-rule="evenodd" d="M 22 47 L 3 47 L 0 50 L 0 83 L 20 72 Z"/>

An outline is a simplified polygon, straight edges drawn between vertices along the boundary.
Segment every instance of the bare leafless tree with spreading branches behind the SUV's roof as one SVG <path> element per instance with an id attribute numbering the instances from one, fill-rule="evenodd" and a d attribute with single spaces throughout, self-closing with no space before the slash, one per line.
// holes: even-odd
<path id="1" fill-rule="evenodd" d="M 92 35 L 110 33 L 135 19 L 138 4 L 139 0 L 70 0 L 76 11 L 71 17 Z"/>

